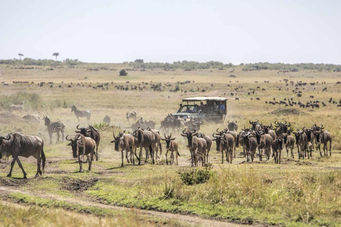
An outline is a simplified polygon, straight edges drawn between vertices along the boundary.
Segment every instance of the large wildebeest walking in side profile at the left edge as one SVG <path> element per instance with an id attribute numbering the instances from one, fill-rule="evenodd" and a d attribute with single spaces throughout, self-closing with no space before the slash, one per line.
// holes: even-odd
<path id="1" fill-rule="evenodd" d="M 43 150 L 44 142 L 41 138 L 33 135 L 23 135 L 21 133 L 10 133 L 7 137 L 0 136 L 0 156 L 13 157 L 11 162 L 11 170 L 7 177 L 11 177 L 14 163 L 18 163 L 19 167 L 23 171 L 23 179 L 27 179 L 26 172 L 23 170 L 23 165 L 19 160 L 18 156 L 21 157 L 35 157 L 37 160 L 37 173 L 42 175 L 40 170 L 40 163 L 42 164 L 43 170 L 45 169 L 46 157 Z M 0 158 L 1 158 L 0 157 Z"/>

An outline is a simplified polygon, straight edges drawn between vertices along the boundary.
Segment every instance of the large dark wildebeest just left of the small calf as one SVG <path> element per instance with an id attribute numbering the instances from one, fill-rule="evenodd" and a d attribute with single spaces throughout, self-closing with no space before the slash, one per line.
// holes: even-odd
<path id="1" fill-rule="evenodd" d="M 154 146 L 155 146 L 155 135 L 151 131 L 144 131 L 142 128 L 138 128 L 136 131 L 134 131 L 134 137 L 137 139 L 135 140 L 136 142 L 136 147 L 140 148 L 140 154 L 139 154 L 139 165 L 141 165 L 141 155 L 142 155 L 142 148 L 145 148 L 146 150 L 146 161 L 148 158 L 148 148 L 149 148 L 149 153 L 152 158 L 153 165 L 155 164 L 155 157 L 154 157 Z"/>

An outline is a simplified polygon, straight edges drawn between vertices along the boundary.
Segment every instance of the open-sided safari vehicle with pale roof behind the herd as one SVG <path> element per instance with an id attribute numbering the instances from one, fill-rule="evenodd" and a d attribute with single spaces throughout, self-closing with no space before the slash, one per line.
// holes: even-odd
<path id="1" fill-rule="evenodd" d="M 227 99 L 223 97 L 192 97 L 183 99 L 176 118 L 202 118 L 205 121 L 224 121 L 227 113 Z"/>

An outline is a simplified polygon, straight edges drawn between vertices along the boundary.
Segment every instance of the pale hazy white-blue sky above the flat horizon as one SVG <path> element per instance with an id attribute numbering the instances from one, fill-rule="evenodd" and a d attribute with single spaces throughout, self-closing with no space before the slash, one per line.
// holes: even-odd
<path id="1" fill-rule="evenodd" d="M 0 0 L 0 59 L 341 64 L 341 1 Z"/>

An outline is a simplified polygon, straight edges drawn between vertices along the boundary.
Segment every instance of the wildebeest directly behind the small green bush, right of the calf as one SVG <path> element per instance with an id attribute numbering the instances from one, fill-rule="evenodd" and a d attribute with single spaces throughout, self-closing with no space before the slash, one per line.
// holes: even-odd
<path id="1" fill-rule="evenodd" d="M 190 149 L 191 165 L 197 166 L 199 158 L 205 153 L 207 143 L 204 138 L 197 138 L 196 131 L 183 131 L 181 135 L 188 140 L 188 148 Z M 202 162 L 203 165 L 203 162 Z"/>

